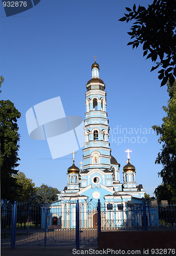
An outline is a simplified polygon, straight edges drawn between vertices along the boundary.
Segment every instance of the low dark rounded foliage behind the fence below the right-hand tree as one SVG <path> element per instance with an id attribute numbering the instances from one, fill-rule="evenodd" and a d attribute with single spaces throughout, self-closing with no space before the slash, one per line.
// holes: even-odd
<path id="1" fill-rule="evenodd" d="M 157 202 L 161 203 L 161 200 L 167 200 L 168 203 L 175 203 L 176 197 L 174 197 L 174 191 L 172 190 L 172 187 L 167 184 L 161 184 L 155 189 L 155 195 L 157 198 Z"/>

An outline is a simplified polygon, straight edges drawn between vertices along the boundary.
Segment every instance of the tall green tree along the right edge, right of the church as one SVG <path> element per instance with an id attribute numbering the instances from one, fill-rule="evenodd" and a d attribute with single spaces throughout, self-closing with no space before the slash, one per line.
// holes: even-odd
<path id="1" fill-rule="evenodd" d="M 169 185 L 169 190 L 176 197 L 176 81 L 173 86 L 168 86 L 168 105 L 163 106 L 166 117 L 163 117 L 162 125 L 153 125 L 152 129 L 160 135 L 159 143 L 162 143 L 162 150 L 158 153 L 155 163 L 162 164 L 163 169 L 159 172 L 165 187 Z M 167 187 L 168 188 L 168 187 Z"/>

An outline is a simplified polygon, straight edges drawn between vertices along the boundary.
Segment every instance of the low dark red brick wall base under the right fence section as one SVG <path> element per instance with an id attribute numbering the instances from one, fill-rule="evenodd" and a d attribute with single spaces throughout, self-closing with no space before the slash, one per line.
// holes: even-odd
<path id="1" fill-rule="evenodd" d="M 99 250 L 176 248 L 176 230 L 99 232 Z"/>

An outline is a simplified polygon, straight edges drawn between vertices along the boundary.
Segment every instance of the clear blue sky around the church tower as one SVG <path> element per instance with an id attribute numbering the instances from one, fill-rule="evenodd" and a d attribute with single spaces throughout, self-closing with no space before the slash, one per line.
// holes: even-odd
<path id="1" fill-rule="evenodd" d="M 121 164 L 120 181 L 129 148 L 137 184 L 150 196 L 161 184 L 162 166 L 155 160 L 162 145 L 151 126 L 161 125 L 168 94 L 166 86 L 160 87 L 157 71 L 150 72 L 155 63 L 145 60 L 142 46 L 127 46 L 132 24 L 118 19 L 134 3 L 147 7 L 152 1 L 41 0 L 9 17 L 1 4 L 0 73 L 5 81 L 0 98 L 11 100 L 21 113 L 18 169 L 36 186 L 44 183 L 62 190 L 73 155 L 52 159 L 46 140 L 29 137 L 26 112 L 60 96 L 65 115 L 85 119 L 85 85 L 95 55 L 106 84 L 109 142 Z M 75 155 L 78 167 L 82 154 L 80 149 Z"/>

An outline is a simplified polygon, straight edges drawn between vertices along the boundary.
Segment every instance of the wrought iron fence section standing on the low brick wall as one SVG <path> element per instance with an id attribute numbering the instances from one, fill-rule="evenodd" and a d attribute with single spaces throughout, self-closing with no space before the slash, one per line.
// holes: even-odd
<path id="1" fill-rule="evenodd" d="M 176 206 L 157 202 L 104 204 L 101 206 L 101 231 L 151 230 L 176 228 Z"/>

